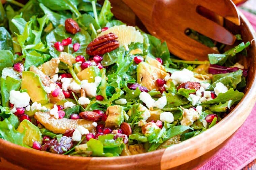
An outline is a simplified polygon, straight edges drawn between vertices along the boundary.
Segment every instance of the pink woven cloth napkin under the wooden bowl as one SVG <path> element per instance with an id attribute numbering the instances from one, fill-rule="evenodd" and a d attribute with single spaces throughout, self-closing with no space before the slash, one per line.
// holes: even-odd
<path id="1" fill-rule="evenodd" d="M 256 30 L 256 15 L 241 10 Z M 240 170 L 256 159 L 256 105 L 244 124 L 209 162 L 199 170 Z"/>

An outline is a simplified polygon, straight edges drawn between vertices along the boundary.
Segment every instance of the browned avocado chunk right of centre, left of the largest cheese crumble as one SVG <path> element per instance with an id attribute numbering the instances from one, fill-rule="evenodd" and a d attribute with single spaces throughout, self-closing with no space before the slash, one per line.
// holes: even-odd
<path id="1" fill-rule="evenodd" d="M 157 61 L 158 62 L 158 61 Z M 154 67 L 146 62 L 140 62 L 137 67 L 137 83 L 142 84 L 149 90 L 159 90 L 156 80 L 164 77 L 167 73 L 157 67 Z"/>

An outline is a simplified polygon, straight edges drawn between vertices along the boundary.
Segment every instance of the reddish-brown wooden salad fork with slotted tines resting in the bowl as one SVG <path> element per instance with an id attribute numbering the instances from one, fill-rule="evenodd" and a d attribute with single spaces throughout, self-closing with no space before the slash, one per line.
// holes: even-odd
<path id="1" fill-rule="evenodd" d="M 150 34 L 166 41 L 170 52 L 184 60 L 203 61 L 207 60 L 207 54 L 217 53 L 188 37 L 185 34 L 187 29 L 195 30 L 217 42 L 233 45 L 236 37 L 221 25 L 223 18 L 240 25 L 236 6 L 231 0 L 112 0 L 111 2 L 113 12 L 118 19 L 136 20 L 136 16 L 132 16 L 129 9 L 124 6 L 125 3 Z M 208 11 L 208 15 L 203 15 L 205 11 Z M 128 14 L 128 17 L 125 19 L 126 16 L 122 14 Z M 209 14 L 214 15 L 215 19 L 209 17 Z"/>

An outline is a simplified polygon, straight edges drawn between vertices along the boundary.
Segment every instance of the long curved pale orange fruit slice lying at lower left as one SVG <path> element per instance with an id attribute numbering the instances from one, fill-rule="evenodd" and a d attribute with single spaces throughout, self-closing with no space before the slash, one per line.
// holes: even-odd
<path id="1" fill-rule="evenodd" d="M 85 119 L 56 119 L 46 112 L 36 112 L 35 118 L 39 121 L 47 130 L 50 130 L 54 133 L 64 134 L 68 129 L 75 129 L 78 126 L 83 126 L 89 131 L 94 131 L 95 126 L 92 125 L 92 121 Z"/>

